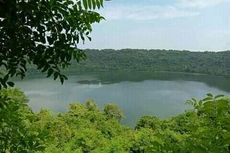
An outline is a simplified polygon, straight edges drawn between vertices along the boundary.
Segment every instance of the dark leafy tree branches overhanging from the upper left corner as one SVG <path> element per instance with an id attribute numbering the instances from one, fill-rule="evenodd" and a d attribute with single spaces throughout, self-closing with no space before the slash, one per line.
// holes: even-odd
<path id="1" fill-rule="evenodd" d="M 85 59 L 77 44 L 86 39 L 103 0 L 0 0 L 0 88 L 24 78 L 28 64 L 63 83 L 62 68 Z"/>

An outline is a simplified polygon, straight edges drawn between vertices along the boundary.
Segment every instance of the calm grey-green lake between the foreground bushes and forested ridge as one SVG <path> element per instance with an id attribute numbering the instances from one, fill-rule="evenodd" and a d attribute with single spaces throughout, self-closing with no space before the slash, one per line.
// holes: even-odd
<path id="1" fill-rule="evenodd" d="M 134 126 L 143 115 L 170 117 L 189 109 L 191 98 L 207 93 L 230 96 L 230 78 L 167 72 L 98 72 L 70 74 L 68 81 L 29 77 L 16 81 L 16 87 L 29 97 L 33 110 L 48 108 L 55 112 L 68 109 L 69 103 L 93 99 L 100 108 L 116 103 L 123 110 L 123 123 Z"/>

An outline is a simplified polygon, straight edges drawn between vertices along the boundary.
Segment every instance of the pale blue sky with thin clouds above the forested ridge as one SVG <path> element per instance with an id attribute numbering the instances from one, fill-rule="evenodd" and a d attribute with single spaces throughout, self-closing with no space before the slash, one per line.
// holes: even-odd
<path id="1" fill-rule="evenodd" d="M 230 49 L 230 0 L 111 0 L 82 48 Z"/>

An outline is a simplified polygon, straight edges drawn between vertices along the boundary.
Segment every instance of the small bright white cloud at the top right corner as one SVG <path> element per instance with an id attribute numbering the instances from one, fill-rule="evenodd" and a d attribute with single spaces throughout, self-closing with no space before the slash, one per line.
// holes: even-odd
<path id="1" fill-rule="evenodd" d="M 177 6 L 202 9 L 229 2 L 230 0 L 178 0 Z"/>

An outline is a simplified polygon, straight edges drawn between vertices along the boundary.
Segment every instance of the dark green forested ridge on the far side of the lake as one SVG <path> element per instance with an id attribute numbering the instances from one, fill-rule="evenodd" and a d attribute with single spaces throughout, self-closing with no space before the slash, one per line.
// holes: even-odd
<path id="1" fill-rule="evenodd" d="M 73 62 L 70 73 L 92 71 L 171 71 L 230 74 L 230 52 L 176 50 L 85 50 L 87 60 Z"/>

